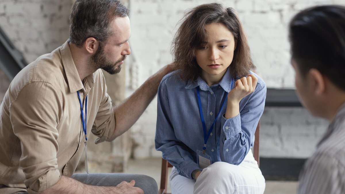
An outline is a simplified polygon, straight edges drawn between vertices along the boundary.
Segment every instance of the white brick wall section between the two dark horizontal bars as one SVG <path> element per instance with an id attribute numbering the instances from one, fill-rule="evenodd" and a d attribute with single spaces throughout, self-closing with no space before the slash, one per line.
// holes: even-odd
<path id="1" fill-rule="evenodd" d="M 310 156 L 328 122 L 304 108 L 266 108 L 261 117 L 260 154 L 270 157 Z"/>

